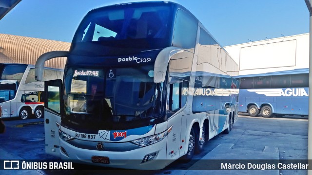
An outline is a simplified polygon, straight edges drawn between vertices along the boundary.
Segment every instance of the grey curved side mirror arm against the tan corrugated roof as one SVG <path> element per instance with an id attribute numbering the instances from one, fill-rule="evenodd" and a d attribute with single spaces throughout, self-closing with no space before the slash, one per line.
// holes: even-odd
<path id="1" fill-rule="evenodd" d="M 37 81 L 42 81 L 42 74 L 44 70 L 45 61 L 57 57 L 67 57 L 68 53 L 69 53 L 68 51 L 52 51 L 40 55 L 35 65 L 35 79 Z"/>

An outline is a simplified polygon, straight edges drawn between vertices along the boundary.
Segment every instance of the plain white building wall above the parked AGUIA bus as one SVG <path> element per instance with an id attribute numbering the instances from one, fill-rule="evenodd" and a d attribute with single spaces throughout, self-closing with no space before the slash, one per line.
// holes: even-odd
<path id="1" fill-rule="evenodd" d="M 239 66 L 239 75 L 309 68 L 309 34 L 283 36 L 224 49 Z"/>

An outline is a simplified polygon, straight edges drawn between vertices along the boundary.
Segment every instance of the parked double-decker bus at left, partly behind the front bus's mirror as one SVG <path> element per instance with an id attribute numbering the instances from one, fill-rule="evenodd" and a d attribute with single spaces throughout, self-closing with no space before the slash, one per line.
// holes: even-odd
<path id="1" fill-rule="evenodd" d="M 63 73 L 64 70 L 44 68 L 43 80 L 62 79 Z M 35 80 L 34 65 L 0 63 L 1 117 L 42 117 L 43 90 L 44 82 Z"/>

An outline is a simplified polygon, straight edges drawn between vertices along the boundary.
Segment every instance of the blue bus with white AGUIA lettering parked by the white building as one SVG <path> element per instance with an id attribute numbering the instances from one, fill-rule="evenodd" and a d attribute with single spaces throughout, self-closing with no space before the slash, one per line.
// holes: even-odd
<path id="1" fill-rule="evenodd" d="M 240 75 L 239 111 L 255 117 L 308 115 L 309 69 Z"/>

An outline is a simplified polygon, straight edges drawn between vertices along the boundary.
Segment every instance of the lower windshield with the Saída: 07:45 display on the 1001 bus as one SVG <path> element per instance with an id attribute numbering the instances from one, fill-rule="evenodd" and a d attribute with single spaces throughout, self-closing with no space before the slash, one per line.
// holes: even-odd
<path id="1" fill-rule="evenodd" d="M 62 121 L 70 120 L 66 125 L 71 128 L 108 130 L 157 118 L 163 83 L 154 83 L 151 70 L 152 65 L 107 70 L 68 68 Z"/>

